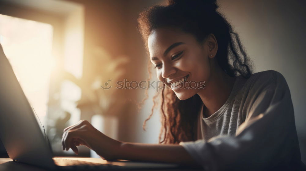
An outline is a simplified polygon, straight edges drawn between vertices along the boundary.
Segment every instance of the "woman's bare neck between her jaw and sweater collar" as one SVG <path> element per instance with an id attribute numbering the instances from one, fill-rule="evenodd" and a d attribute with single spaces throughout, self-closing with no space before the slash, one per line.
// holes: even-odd
<path id="1" fill-rule="evenodd" d="M 205 117 L 211 116 L 225 104 L 237 78 L 230 77 L 221 68 L 214 69 L 209 80 L 205 82 L 205 89 L 198 93 L 205 106 L 203 108 Z"/>

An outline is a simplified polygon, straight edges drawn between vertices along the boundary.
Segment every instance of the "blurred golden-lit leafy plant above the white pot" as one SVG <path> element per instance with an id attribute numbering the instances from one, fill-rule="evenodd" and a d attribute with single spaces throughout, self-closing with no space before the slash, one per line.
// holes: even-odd
<path id="1" fill-rule="evenodd" d="M 91 60 L 93 62 L 90 78 L 76 82 L 82 89 L 82 97 L 77 107 L 91 107 L 94 114 L 116 115 L 126 101 L 123 91 L 116 89 L 116 82 L 123 80 L 129 58 L 113 58 L 106 50 L 95 47 L 91 50 Z M 112 88 L 102 89 L 101 86 Z"/>

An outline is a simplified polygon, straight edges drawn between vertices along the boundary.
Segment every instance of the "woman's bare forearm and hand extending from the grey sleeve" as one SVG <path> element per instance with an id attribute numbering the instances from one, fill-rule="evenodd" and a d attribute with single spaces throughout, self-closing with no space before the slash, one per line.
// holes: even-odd
<path id="1" fill-rule="evenodd" d="M 141 144 L 114 140 L 95 129 L 88 121 L 81 120 L 64 130 L 62 149 L 85 145 L 106 160 L 124 159 L 147 162 L 170 162 L 182 165 L 197 165 L 183 146 L 178 144 Z"/>

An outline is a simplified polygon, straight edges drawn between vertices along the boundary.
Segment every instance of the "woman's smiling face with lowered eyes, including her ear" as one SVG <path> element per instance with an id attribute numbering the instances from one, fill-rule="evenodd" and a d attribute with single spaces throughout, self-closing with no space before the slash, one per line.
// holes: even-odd
<path id="1" fill-rule="evenodd" d="M 218 47 L 208 41 L 200 45 L 193 35 L 180 30 L 159 28 L 149 36 L 148 48 L 159 80 L 185 100 L 205 88 Z"/>

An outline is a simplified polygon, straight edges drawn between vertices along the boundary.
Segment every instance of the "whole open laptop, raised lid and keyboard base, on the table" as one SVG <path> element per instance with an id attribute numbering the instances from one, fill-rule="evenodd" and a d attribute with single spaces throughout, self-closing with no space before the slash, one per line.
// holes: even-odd
<path id="1" fill-rule="evenodd" d="M 14 161 L 48 170 L 175 168 L 168 163 L 106 161 L 101 158 L 55 158 L 0 45 L 0 139 Z"/>

